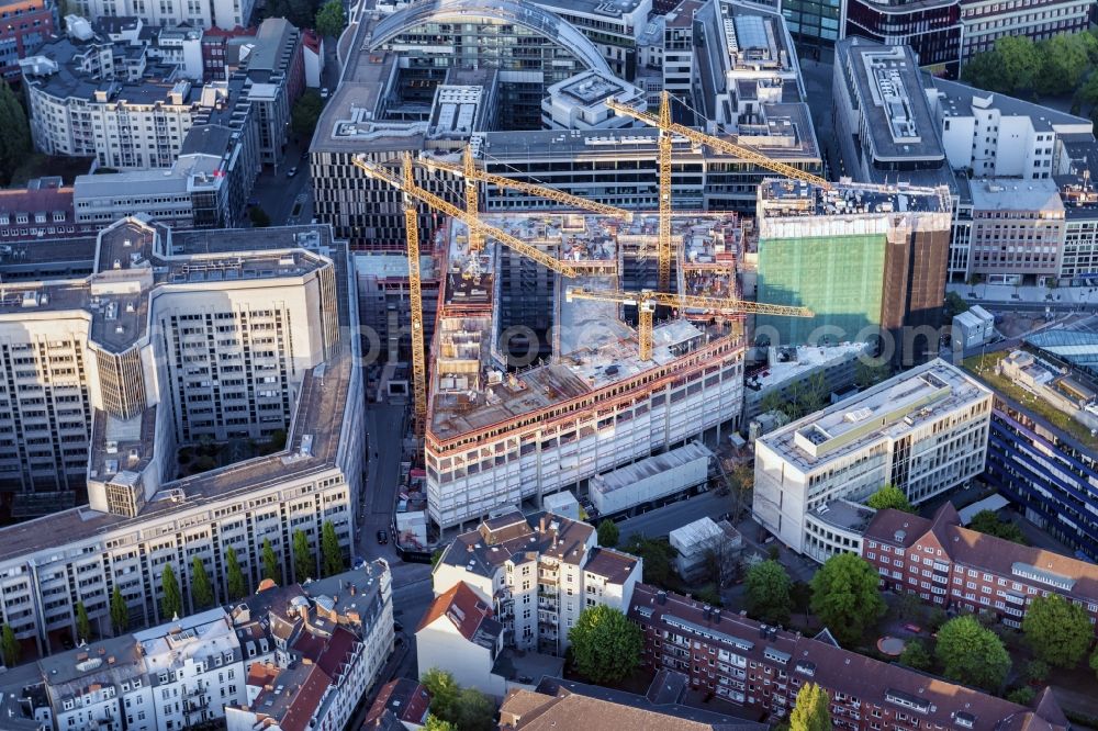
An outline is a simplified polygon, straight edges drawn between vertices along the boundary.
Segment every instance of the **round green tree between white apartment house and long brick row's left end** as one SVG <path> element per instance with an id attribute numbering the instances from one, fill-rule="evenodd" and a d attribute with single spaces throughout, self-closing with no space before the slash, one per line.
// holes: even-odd
<path id="1" fill-rule="evenodd" d="M 593 683 L 616 683 L 640 667 L 645 640 L 640 628 L 606 605 L 580 612 L 568 631 L 580 673 Z"/>

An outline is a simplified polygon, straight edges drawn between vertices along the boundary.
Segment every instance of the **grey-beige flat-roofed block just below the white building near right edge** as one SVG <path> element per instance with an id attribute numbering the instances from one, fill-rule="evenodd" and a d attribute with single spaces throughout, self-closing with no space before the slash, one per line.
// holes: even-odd
<path id="1" fill-rule="evenodd" d="M 1054 181 L 973 180 L 968 190 L 968 277 L 1039 285 L 1060 278 L 1066 216 Z"/>

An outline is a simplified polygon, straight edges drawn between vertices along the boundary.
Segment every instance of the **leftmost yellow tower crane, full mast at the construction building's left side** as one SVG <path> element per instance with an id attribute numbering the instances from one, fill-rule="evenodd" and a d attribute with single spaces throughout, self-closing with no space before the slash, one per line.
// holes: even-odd
<path id="1" fill-rule="evenodd" d="M 448 216 L 464 223 L 470 233 L 488 236 L 498 240 L 525 257 L 553 270 L 558 274 L 574 278 L 578 273 L 574 267 L 549 256 L 548 254 L 515 238 L 511 234 L 494 226 L 481 223 L 475 214 L 469 214 L 448 201 L 423 190 L 415 184 L 412 172 L 412 156 L 405 154 L 401 160 L 400 176 L 393 171 L 367 161 L 365 156 L 354 158 L 355 166 L 366 175 L 389 183 L 404 194 L 404 227 L 407 238 L 408 257 L 408 294 L 412 303 L 412 393 L 415 408 L 415 434 L 422 437 L 427 425 L 427 357 L 423 342 L 423 299 L 419 281 L 419 226 L 416 218 L 415 202 L 426 203 Z"/>

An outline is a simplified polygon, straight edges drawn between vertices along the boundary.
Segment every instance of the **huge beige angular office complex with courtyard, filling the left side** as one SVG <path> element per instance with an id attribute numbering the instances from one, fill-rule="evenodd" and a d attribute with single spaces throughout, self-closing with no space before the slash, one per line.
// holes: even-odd
<path id="1" fill-rule="evenodd" d="M 287 571 L 291 530 L 317 546 L 330 521 L 349 553 L 362 393 L 345 335 L 354 280 L 328 229 L 128 218 L 66 246 L 29 247 L 19 266 L 65 250 L 90 275 L 9 285 L 0 308 L 0 474 L 19 515 L 44 516 L 0 530 L 3 622 L 47 652 L 71 632 L 77 601 L 105 633 L 115 587 L 131 626 L 166 619 L 165 565 L 189 596 L 200 559 L 224 596 L 226 546 L 251 585 L 264 538 Z M 178 457 L 206 439 L 283 432 L 283 448 L 224 469 Z M 89 505 L 70 507 L 85 486 Z"/>

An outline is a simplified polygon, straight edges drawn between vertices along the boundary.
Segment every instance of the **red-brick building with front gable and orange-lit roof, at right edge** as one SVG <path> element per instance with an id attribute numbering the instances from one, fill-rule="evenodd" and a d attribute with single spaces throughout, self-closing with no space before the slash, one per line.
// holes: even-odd
<path id="1" fill-rule="evenodd" d="M 1034 596 L 1055 593 L 1098 619 L 1098 566 L 961 527 L 949 503 L 932 520 L 881 510 L 862 539 L 881 585 L 943 608 L 988 611 L 1019 627 Z"/>

